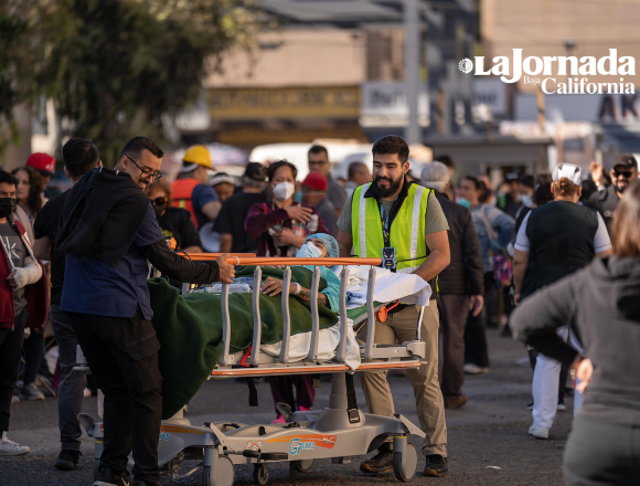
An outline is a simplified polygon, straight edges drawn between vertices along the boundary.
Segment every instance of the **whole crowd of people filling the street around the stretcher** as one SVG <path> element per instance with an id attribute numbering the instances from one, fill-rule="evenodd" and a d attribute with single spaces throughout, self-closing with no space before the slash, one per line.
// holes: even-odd
<path id="1" fill-rule="evenodd" d="M 131 450 L 136 484 L 159 484 L 162 378 L 148 262 L 175 282 L 230 283 L 235 275 L 224 257 L 205 264 L 178 256 L 167 245 L 172 240 L 175 252 L 188 254 L 215 244 L 222 253 L 258 256 L 378 256 L 385 267 L 428 282 L 422 338 L 430 359 L 408 373 L 426 434 L 425 475 L 448 474 L 445 409 L 467 403 L 466 374 L 490 372 L 486 329 L 499 327 L 529 351 L 534 437 L 548 437 L 565 410 L 567 376 L 577 379 L 569 483 L 631 484 L 640 474 L 632 461 L 640 382 L 629 372 L 638 357 L 623 346 L 638 338 L 640 302 L 633 156 L 616 156 L 609 173 L 595 162 L 588 173 L 559 163 L 551 173 L 508 172 L 493 187 L 487 176 L 458 173 L 446 155 L 412 173 L 401 137 L 383 137 L 372 151 L 373 165 L 351 163 L 346 180 L 332 177 L 330 154 L 318 145 L 303 180 L 287 160 L 249 162 L 236 180 L 214 172 L 207 148 L 193 146 L 171 183 L 160 172 L 163 151 L 150 139 L 127 142 L 111 170 L 90 140 L 74 138 L 62 152 L 68 191 L 47 186 L 56 161 L 44 154 L 11 173 L 0 170 L 0 456 L 29 452 L 7 436 L 10 406 L 45 398 L 38 384 L 51 321 L 58 357 L 55 466 L 75 469 L 81 455 L 77 414 L 87 383 L 73 370 L 79 344 L 109 422 L 96 484 L 124 484 Z M 338 313 L 339 281 L 329 273 L 319 305 Z M 269 277 L 262 292 L 277 295 L 281 281 Z M 290 292 L 310 302 L 310 289 L 292 284 Z M 399 304 L 386 321 L 369 325 L 376 342 L 403 342 L 415 338 L 418 314 Z M 386 372 L 360 376 L 371 413 L 393 415 Z M 271 378 L 270 388 L 275 403 L 313 406 L 309 377 Z M 284 422 L 276 409 L 274 423 Z M 621 435 L 631 439 L 606 451 L 594 445 Z M 392 472 L 393 444 L 381 444 L 361 471 Z"/>

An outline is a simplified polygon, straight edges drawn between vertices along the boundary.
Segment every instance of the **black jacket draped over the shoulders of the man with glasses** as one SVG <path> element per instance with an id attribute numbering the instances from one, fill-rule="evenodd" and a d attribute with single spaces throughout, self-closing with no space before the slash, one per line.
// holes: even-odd
<path id="1" fill-rule="evenodd" d="M 149 198 L 128 173 L 89 170 L 68 191 L 56 251 L 115 265 L 134 243 L 148 209 Z"/>

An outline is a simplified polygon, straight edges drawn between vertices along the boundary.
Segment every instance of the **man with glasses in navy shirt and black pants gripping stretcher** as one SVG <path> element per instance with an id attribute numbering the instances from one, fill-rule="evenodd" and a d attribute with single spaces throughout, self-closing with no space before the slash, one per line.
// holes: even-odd
<path id="1" fill-rule="evenodd" d="M 231 283 L 233 265 L 172 253 L 143 189 L 160 178 L 163 151 L 136 137 L 115 170 L 88 171 L 68 191 L 55 249 L 65 253 L 60 308 L 67 313 L 97 388 L 105 393 L 105 440 L 95 486 L 159 485 L 158 440 L 162 413 L 160 342 L 151 325 L 148 261 L 188 283 Z"/>

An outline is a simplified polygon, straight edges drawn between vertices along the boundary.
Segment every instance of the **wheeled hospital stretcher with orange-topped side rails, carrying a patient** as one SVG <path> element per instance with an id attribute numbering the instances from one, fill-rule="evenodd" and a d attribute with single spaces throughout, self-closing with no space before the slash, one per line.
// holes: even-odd
<path id="1" fill-rule="evenodd" d="M 215 254 L 190 255 L 192 260 L 213 260 Z M 362 413 L 355 403 L 353 377 L 345 363 L 349 317 L 354 326 L 363 321 L 375 323 L 376 310 L 382 306 L 373 302 L 376 266 L 380 258 L 279 258 L 230 256 L 235 265 L 256 265 L 253 283 L 253 342 L 260 342 L 259 288 L 262 266 L 285 265 L 281 306 L 284 316 L 282 341 L 277 357 L 260 351 L 260 346 L 252 346 L 250 352 L 231 352 L 231 321 L 228 311 L 230 286 L 222 286 L 222 321 L 224 349 L 218 363 L 211 372 L 216 377 L 269 377 L 274 374 L 333 373 L 329 406 L 324 410 L 292 412 L 288 405 L 278 404 L 286 419 L 285 424 L 249 425 L 232 422 L 211 422 L 192 425 L 182 411 L 162 421 L 158 463 L 173 480 L 182 479 L 201 471 L 204 486 L 232 486 L 234 467 L 243 464 L 254 466 L 254 482 L 264 485 L 268 480 L 268 464 L 288 462 L 290 475 L 306 472 L 314 459 L 331 458 L 334 463 L 350 462 L 351 456 L 363 455 L 376 450 L 387 439 L 393 439 L 394 473 L 397 479 L 407 482 L 415 475 L 417 452 L 408 441 L 409 435 L 425 437 L 420 429 L 403 415 L 393 418 Z M 322 265 L 341 265 L 343 272 L 340 285 L 340 341 L 333 359 L 319 362 L 317 359 L 320 325 L 318 313 L 318 288 Z M 302 361 L 289 362 L 291 321 L 289 316 L 289 287 L 291 270 L 289 265 L 314 266 L 311 285 L 311 342 L 309 353 Z M 348 265 L 367 265 L 367 299 L 362 309 L 348 313 L 346 287 Z M 184 292 L 191 292 L 188 286 Z M 420 338 L 420 321 L 424 307 L 416 323 L 416 338 L 398 345 L 376 345 L 375 326 L 367 326 L 366 340 L 360 345 L 361 362 L 356 371 L 415 369 L 425 356 L 426 345 Z M 244 358 L 244 359 L 243 359 Z M 85 364 L 83 364 L 85 363 Z M 85 371 L 86 360 L 78 347 L 78 368 Z M 94 468 L 97 469 L 103 451 L 103 423 L 95 423 L 87 414 L 78 415 L 87 434 L 95 439 Z M 183 461 L 199 459 L 201 465 L 181 474 Z"/>

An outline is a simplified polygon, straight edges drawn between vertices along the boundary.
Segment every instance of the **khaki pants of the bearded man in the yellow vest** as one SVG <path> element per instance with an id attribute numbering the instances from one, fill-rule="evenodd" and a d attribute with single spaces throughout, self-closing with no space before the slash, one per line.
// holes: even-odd
<path id="1" fill-rule="evenodd" d="M 393 345 L 416 339 L 419 307 L 409 306 L 392 314 L 386 323 L 375 321 L 375 342 Z M 420 427 L 427 435 L 423 443 L 425 455 L 438 454 L 447 457 L 447 424 L 445 422 L 445 403 L 438 383 L 438 306 L 430 300 L 425 307 L 422 323 L 422 339 L 427 344 L 426 361 L 418 369 L 408 370 L 414 387 L 416 409 Z M 359 334 L 359 339 L 366 340 L 366 327 Z M 363 371 L 360 373 L 362 390 L 366 398 L 369 411 L 376 415 L 393 416 L 393 397 L 386 381 L 386 371 Z"/>

